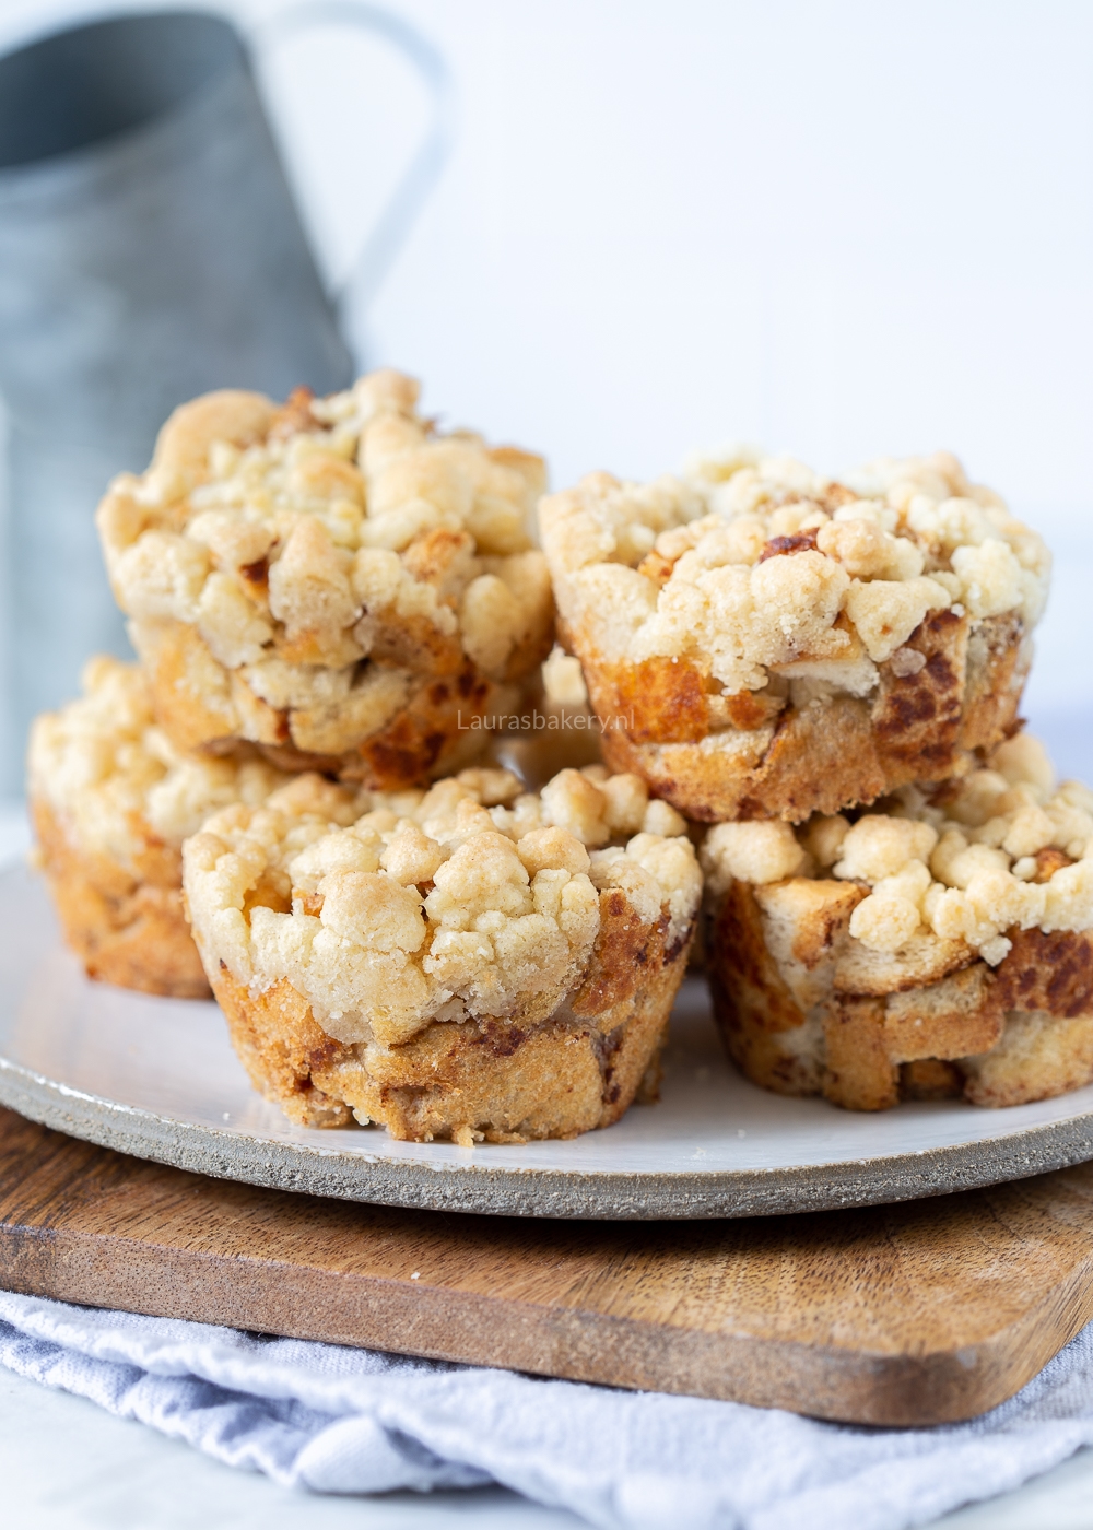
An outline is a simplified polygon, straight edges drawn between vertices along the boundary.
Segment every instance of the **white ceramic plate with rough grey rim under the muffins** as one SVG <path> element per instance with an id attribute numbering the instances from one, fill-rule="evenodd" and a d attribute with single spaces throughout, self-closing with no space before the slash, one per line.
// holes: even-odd
<path id="1" fill-rule="evenodd" d="M 1093 1086 L 983 1111 L 784 1100 L 724 1062 L 684 984 L 663 1099 L 574 1141 L 396 1143 L 292 1126 L 251 1089 L 214 1004 L 89 982 L 40 878 L 0 877 L 0 1103 L 182 1169 L 352 1201 L 517 1216 L 755 1216 L 912 1200 L 1093 1158 Z"/>

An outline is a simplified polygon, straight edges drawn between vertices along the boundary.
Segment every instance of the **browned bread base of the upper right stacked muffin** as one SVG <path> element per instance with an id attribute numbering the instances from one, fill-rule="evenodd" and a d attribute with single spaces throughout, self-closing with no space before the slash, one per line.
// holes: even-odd
<path id="1" fill-rule="evenodd" d="M 710 730 L 719 685 L 687 659 L 608 662 L 565 633 L 603 724 L 603 759 L 634 771 L 651 793 L 690 819 L 785 819 L 876 802 L 908 782 L 963 774 L 974 750 L 1018 725 L 1032 659 L 1018 617 L 972 626 L 951 610 L 929 615 L 905 644 L 923 664 L 896 675 L 880 664 L 874 699 L 834 693 L 775 715 L 762 692 L 729 698 L 736 727 Z"/>

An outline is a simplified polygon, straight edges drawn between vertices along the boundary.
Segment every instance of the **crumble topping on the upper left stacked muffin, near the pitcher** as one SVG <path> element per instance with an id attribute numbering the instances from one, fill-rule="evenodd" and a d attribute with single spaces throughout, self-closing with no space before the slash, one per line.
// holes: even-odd
<path id="1" fill-rule="evenodd" d="M 329 705 L 331 672 L 355 702 L 372 659 L 401 684 L 386 716 L 407 672 L 452 673 L 465 653 L 513 679 L 537 662 L 525 649 L 553 610 L 528 536 L 543 462 L 442 436 L 416 401 L 418 384 L 386 370 L 280 409 L 220 392 L 176 410 L 147 473 L 115 479 L 98 513 L 138 647 L 148 627 L 184 623 L 256 696 L 279 684 L 300 708 Z M 383 707 L 369 725 L 372 713 Z"/>

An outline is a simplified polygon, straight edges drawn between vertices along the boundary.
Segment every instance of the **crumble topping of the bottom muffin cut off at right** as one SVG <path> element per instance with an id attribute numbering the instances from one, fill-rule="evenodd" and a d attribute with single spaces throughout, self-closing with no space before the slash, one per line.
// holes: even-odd
<path id="1" fill-rule="evenodd" d="M 733 878 L 857 883 L 866 895 L 850 933 L 876 952 L 935 936 L 998 965 L 1015 927 L 1093 929 L 1093 791 L 1056 785 L 1027 733 L 1000 744 L 984 768 L 932 791 L 903 786 L 854 820 L 719 823 L 701 860 L 713 894 Z"/>

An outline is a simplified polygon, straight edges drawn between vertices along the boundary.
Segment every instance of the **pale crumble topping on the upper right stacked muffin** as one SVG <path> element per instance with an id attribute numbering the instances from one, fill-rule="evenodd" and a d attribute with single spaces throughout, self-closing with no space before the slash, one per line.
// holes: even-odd
<path id="1" fill-rule="evenodd" d="M 562 615 L 608 659 L 689 658 L 723 695 L 811 681 L 851 695 L 931 610 L 1041 617 L 1041 539 L 949 453 L 822 477 L 733 450 L 651 485 L 592 473 L 540 506 Z"/>

